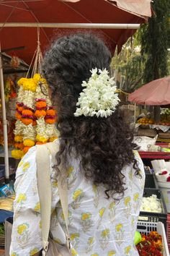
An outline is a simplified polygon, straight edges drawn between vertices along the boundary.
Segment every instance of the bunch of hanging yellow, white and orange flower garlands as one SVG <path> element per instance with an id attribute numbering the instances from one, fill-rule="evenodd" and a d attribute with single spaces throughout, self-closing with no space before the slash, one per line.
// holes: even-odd
<path id="1" fill-rule="evenodd" d="M 18 82 L 16 125 L 12 157 L 20 159 L 35 144 L 51 142 L 58 137 L 56 114 L 48 98 L 48 85 L 40 74 L 22 77 Z M 43 88 L 43 90 L 42 90 Z"/>

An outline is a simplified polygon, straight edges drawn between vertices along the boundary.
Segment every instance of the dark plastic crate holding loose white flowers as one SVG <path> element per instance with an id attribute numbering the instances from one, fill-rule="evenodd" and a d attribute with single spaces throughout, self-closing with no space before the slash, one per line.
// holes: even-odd
<path id="1" fill-rule="evenodd" d="M 144 189 L 143 196 L 150 197 L 151 195 L 157 195 L 158 199 L 161 199 L 161 205 L 163 212 L 162 213 L 151 213 L 151 212 L 144 212 L 140 211 L 140 215 L 138 220 L 139 221 L 149 221 L 149 222 L 158 222 L 161 221 L 164 223 L 164 227 L 166 229 L 166 220 L 167 220 L 167 210 L 166 204 L 164 202 L 164 197 L 161 194 L 159 189 Z"/>

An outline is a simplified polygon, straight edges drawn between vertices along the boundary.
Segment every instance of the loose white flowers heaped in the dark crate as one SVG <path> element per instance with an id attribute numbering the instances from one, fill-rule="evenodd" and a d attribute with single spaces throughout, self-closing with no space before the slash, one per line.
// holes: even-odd
<path id="1" fill-rule="evenodd" d="M 151 197 L 143 197 L 140 210 L 152 213 L 162 213 L 161 201 L 156 195 L 151 195 Z"/>

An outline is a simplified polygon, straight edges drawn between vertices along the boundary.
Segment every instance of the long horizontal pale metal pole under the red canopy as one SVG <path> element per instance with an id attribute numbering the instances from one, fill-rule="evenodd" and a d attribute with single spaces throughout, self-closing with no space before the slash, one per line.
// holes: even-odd
<path id="1" fill-rule="evenodd" d="M 0 27 L 58 27 L 58 28 L 102 28 L 102 29 L 134 29 L 140 24 L 118 23 L 36 23 L 36 22 L 6 22 L 0 23 Z"/>

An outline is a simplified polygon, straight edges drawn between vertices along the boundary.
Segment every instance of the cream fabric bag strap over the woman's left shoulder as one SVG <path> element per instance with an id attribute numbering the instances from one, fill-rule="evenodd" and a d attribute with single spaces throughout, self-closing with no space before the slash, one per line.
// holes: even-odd
<path id="1" fill-rule="evenodd" d="M 58 151 L 58 144 L 50 142 L 45 145 L 37 145 L 37 187 L 40 197 L 40 212 L 42 221 L 42 246 L 45 252 L 48 250 L 48 236 L 50 231 L 50 216 L 51 216 L 51 179 L 50 179 L 50 155 L 55 164 L 55 155 Z M 63 169 L 61 172 L 63 173 Z M 68 195 L 66 179 L 58 177 L 58 192 L 61 199 L 61 206 L 63 208 L 63 215 L 66 221 L 66 241 L 69 247 L 68 235 Z"/>

